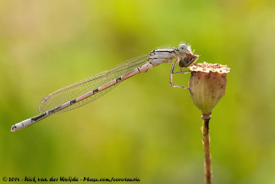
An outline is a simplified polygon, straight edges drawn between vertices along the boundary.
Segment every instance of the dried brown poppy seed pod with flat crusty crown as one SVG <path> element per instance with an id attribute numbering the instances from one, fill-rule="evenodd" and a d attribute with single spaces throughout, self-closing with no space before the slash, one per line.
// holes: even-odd
<path id="1" fill-rule="evenodd" d="M 190 97 L 203 114 L 202 117 L 209 119 L 212 109 L 225 94 L 226 74 L 230 68 L 203 62 L 190 66 L 190 70 Z"/>

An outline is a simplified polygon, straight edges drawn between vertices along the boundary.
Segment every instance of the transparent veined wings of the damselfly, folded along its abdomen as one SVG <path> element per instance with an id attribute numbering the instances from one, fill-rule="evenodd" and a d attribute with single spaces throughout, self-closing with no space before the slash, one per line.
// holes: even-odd
<path id="1" fill-rule="evenodd" d="M 94 89 L 97 89 L 98 87 L 101 87 L 102 85 L 107 84 L 108 82 L 111 82 L 112 80 L 115 80 L 116 78 L 119 78 L 120 76 L 123 76 L 126 73 L 129 73 L 136 67 L 143 65 L 146 62 L 147 58 L 148 54 L 144 56 L 139 56 L 137 58 L 133 58 L 131 60 L 126 60 L 125 62 L 122 62 L 120 65 L 114 67 L 113 69 L 103 71 L 89 78 L 80 80 L 74 84 L 70 84 L 67 87 L 58 89 L 58 91 L 54 91 L 54 93 L 50 93 L 50 95 L 47 95 L 46 97 L 44 97 L 43 100 L 41 100 L 39 104 L 39 113 L 45 113 L 46 111 L 50 111 L 51 109 L 56 108 L 57 106 L 61 106 L 66 102 L 76 99 L 76 97 L 93 91 Z M 72 104 L 72 106 L 68 106 L 67 108 L 64 108 L 58 113 L 70 111 L 74 108 L 78 108 L 80 106 L 88 104 L 89 102 L 92 102 L 93 100 L 96 100 L 102 95 L 108 93 L 118 84 L 115 84 L 103 91 L 100 91 L 95 95 L 91 95 L 91 97 L 87 97 L 85 100 L 82 100 L 76 104 Z"/>

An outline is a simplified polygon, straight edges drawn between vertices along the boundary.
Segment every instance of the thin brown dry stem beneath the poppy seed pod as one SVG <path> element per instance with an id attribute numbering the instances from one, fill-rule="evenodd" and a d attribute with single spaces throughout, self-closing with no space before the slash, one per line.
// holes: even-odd
<path id="1" fill-rule="evenodd" d="M 204 149 L 204 183 L 212 183 L 212 168 L 210 155 L 210 136 L 209 136 L 209 120 L 210 115 L 202 115 L 201 132 L 203 135 L 203 149 Z"/>

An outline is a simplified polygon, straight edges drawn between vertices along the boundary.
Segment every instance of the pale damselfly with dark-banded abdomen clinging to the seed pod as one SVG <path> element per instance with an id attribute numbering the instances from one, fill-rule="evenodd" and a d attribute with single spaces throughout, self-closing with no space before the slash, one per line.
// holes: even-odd
<path id="1" fill-rule="evenodd" d="M 39 104 L 40 115 L 13 125 L 11 131 L 21 130 L 55 113 L 63 113 L 88 104 L 111 91 L 111 89 L 123 80 L 135 76 L 138 73 L 144 73 L 148 71 L 148 69 L 164 62 L 171 64 L 170 85 L 172 87 L 188 89 L 187 87 L 173 84 L 173 74 L 189 73 L 190 71 L 183 71 L 182 68 L 189 67 L 198 58 L 199 56 L 193 54 L 190 46 L 186 44 L 181 44 L 178 48 L 174 49 L 155 49 L 149 54 L 127 60 L 113 69 L 98 73 L 62 89 L 58 89 L 58 91 L 54 93 L 50 93 L 50 95 L 47 95 Z M 173 62 L 173 59 L 175 59 L 175 62 Z M 181 71 L 175 72 L 177 63 Z"/>

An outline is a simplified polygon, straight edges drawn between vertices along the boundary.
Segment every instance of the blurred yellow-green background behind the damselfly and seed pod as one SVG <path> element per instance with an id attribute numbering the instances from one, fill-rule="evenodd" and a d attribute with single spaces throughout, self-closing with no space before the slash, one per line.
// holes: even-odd
<path id="1" fill-rule="evenodd" d="M 188 41 L 228 65 L 210 120 L 214 183 L 275 183 L 274 1 L 0 1 L 0 175 L 203 183 L 201 113 L 170 65 L 11 133 L 48 95 Z M 189 76 L 175 83 L 188 85 Z M 273 120 L 272 120 L 273 119 Z"/>

